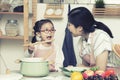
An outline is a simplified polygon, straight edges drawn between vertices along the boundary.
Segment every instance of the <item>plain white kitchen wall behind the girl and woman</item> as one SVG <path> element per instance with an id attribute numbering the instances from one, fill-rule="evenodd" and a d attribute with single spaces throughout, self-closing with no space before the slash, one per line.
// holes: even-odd
<path id="1" fill-rule="evenodd" d="M 72 4 L 71 7 L 77 6 L 85 6 L 92 10 L 92 5 L 82 5 L 82 4 Z M 46 4 L 38 4 L 37 5 L 37 20 L 44 18 L 44 11 L 46 8 Z M 64 14 L 63 19 L 51 19 L 56 28 L 55 34 L 55 41 L 62 46 L 62 41 L 64 39 L 64 30 L 67 24 L 67 4 L 64 5 Z M 120 18 L 96 18 L 96 20 L 102 21 L 109 26 L 112 30 L 114 39 L 114 43 L 120 43 Z M 3 21 L 4 22 L 4 21 Z M 22 32 L 21 32 L 22 34 Z M 78 38 L 74 38 L 75 43 L 77 44 Z M 16 64 L 14 61 L 18 58 L 24 57 L 24 50 L 23 50 L 23 41 L 22 40 L 0 40 L 0 53 L 3 55 L 5 62 L 10 70 L 17 70 L 20 67 L 20 64 Z M 75 48 L 76 49 L 76 48 Z M 78 52 L 76 50 L 76 52 Z M 3 61 L 0 58 L 0 73 L 5 73 L 5 66 Z"/>

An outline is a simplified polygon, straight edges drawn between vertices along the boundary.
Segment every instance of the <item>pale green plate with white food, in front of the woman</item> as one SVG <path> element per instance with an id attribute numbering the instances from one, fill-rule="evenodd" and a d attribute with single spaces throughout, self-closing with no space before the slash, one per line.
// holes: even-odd
<path id="1" fill-rule="evenodd" d="M 89 68 L 87 68 L 87 67 L 63 67 L 61 69 L 62 69 L 62 73 L 65 76 L 70 77 L 71 73 L 74 72 L 74 71 L 82 72 L 84 70 L 88 70 Z"/>

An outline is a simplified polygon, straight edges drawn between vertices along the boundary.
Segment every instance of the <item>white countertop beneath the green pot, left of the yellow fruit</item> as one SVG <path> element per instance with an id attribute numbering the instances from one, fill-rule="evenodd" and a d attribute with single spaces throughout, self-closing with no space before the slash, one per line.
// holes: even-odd
<path id="1" fill-rule="evenodd" d="M 11 71 L 10 74 L 0 74 L 0 80 L 70 80 L 70 77 L 64 76 L 62 72 L 50 72 L 46 77 L 27 77 L 19 71 Z"/>

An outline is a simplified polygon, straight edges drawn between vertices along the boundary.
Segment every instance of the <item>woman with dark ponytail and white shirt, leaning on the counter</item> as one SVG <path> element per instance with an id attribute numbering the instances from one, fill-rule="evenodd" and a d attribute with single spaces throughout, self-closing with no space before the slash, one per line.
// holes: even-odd
<path id="1" fill-rule="evenodd" d="M 81 36 L 78 48 L 82 65 L 79 66 L 98 66 L 105 70 L 108 54 L 112 51 L 113 35 L 110 29 L 96 21 L 85 7 L 77 7 L 69 12 L 68 29 L 74 37 Z"/>

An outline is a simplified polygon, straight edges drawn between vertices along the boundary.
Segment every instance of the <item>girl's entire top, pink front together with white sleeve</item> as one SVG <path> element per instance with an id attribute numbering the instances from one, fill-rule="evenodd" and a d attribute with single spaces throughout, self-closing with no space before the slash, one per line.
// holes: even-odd
<path id="1" fill-rule="evenodd" d="M 42 44 L 35 45 L 32 55 L 50 62 L 58 71 L 61 71 L 60 67 L 63 67 L 64 55 L 62 49 L 55 43 L 53 43 L 50 47 L 46 47 Z"/>

